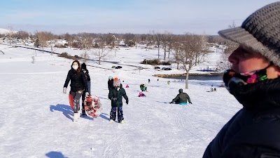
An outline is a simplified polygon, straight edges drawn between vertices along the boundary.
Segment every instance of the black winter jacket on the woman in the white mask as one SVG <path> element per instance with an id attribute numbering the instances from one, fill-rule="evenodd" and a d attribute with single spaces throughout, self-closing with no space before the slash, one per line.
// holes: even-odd
<path id="1" fill-rule="evenodd" d="M 80 91 L 80 90 L 85 90 L 85 92 L 87 91 L 87 81 L 85 79 L 85 74 L 83 73 L 83 71 L 77 72 L 76 70 L 69 70 L 65 83 L 64 83 L 64 87 L 67 88 L 69 81 L 71 80 L 71 91 Z"/>

